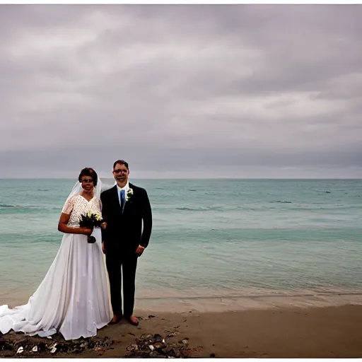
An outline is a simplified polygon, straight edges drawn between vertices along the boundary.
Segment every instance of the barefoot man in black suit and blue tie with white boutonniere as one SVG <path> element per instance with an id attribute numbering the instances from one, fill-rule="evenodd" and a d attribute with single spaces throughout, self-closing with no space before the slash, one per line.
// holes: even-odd
<path id="1" fill-rule="evenodd" d="M 114 314 L 110 322 L 112 325 L 122 318 L 122 284 L 123 315 L 132 325 L 139 324 L 139 320 L 133 315 L 136 266 L 138 257 L 148 245 L 152 229 L 151 205 L 147 192 L 129 183 L 128 176 L 128 163 L 125 160 L 115 161 L 113 177 L 117 185 L 100 195 L 102 215 L 107 223 L 107 228 L 102 229 L 102 250 L 110 279 Z"/>

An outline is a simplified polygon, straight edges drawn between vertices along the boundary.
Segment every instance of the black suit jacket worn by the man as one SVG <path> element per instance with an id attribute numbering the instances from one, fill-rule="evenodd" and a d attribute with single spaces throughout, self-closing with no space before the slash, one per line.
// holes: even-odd
<path id="1" fill-rule="evenodd" d="M 134 253 L 141 245 L 147 247 L 152 230 L 151 204 L 145 189 L 129 183 L 133 194 L 124 205 L 122 213 L 117 185 L 100 194 L 102 216 L 107 228 L 102 229 L 102 240 L 107 252 Z M 143 221 L 143 230 L 142 230 Z"/>

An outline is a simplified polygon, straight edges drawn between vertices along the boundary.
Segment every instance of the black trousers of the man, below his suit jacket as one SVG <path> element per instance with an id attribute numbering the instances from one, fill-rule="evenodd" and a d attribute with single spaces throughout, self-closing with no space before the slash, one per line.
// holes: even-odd
<path id="1" fill-rule="evenodd" d="M 129 317 L 133 314 L 137 259 L 136 254 L 128 252 L 107 252 L 105 255 L 110 280 L 110 299 L 115 315 L 123 314 Z M 124 313 L 122 313 L 122 284 Z"/>

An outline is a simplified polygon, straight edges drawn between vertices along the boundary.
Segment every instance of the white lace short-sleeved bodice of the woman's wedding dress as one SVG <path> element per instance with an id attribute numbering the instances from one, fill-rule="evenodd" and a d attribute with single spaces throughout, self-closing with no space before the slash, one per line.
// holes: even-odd
<path id="1" fill-rule="evenodd" d="M 79 221 L 81 219 L 81 215 L 88 213 L 89 211 L 101 214 L 100 208 L 100 199 L 97 197 L 93 197 L 90 202 L 88 202 L 83 196 L 80 194 L 76 194 L 72 196 L 64 205 L 62 212 L 64 214 L 70 214 L 70 218 L 68 221 L 68 226 L 72 226 L 75 228 L 79 227 Z"/>

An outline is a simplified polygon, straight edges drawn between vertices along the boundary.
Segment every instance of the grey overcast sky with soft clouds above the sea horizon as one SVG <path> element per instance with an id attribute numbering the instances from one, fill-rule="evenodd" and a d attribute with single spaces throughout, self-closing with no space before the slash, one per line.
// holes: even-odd
<path id="1" fill-rule="evenodd" d="M 362 177 L 362 6 L 0 6 L 0 178 Z"/>

